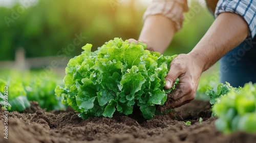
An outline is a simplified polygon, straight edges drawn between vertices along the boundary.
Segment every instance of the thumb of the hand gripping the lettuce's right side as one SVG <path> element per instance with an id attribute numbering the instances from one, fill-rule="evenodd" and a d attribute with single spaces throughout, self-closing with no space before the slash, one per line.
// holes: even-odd
<path id="1" fill-rule="evenodd" d="M 177 68 L 175 65 L 170 66 L 170 70 L 168 72 L 168 74 L 165 76 L 165 85 L 164 88 L 166 90 L 169 90 L 170 88 L 173 87 L 173 83 L 176 81 L 176 79 L 182 74 L 182 72 L 180 70 L 178 70 L 180 68 Z"/>

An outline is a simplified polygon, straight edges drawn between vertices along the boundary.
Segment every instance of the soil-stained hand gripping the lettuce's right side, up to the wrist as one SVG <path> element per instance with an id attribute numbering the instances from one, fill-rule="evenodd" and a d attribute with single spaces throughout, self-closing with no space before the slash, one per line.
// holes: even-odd
<path id="1" fill-rule="evenodd" d="M 198 82 L 202 73 L 200 63 L 189 54 L 179 54 L 170 63 L 170 70 L 165 77 L 165 89 L 172 88 L 179 78 L 176 88 L 168 96 L 171 107 L 179 107 L 195 99 Z M 167 99 L 168 100 L 168 99 Z"/>

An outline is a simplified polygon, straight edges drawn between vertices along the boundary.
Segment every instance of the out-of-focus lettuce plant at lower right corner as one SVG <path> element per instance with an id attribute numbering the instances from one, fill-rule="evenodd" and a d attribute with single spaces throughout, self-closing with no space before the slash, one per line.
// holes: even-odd
<path id="1" fill-rule="evenodd" d="M 246 131 L 256 133 L 256 83 L 246 83 L 243 88 L 220 83 L 217 91 L 208 89 L 212 112 L 219 119 L 215 127 L 224 133 Z"/>

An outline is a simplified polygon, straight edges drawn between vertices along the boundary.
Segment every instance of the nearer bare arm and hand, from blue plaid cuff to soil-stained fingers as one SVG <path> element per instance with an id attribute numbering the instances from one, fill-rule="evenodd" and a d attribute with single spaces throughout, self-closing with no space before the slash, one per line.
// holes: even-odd
<path id="1" fill-rule="evenodd" d="M 201 73 L 224 54 L 239 45 L 248 35 L 248 24 L 234 13 L 221 13 L 207 33 L 188 54 L 178 55 L 170 64 L 165 88 L 179 77 L 179 88 L 172 93 L 173 106 L 181 106 L 195 98 Z"/>

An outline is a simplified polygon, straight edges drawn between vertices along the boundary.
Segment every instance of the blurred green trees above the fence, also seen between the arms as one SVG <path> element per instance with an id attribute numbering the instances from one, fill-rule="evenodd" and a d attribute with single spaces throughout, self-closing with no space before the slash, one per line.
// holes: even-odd
<path id="1" fill-rule="evenodd" d="M 114 37 L 137 39 L 146 9 L 135 0 L 39 0 L 34 3 L 0 7 L 0 61 L 14 60 L 14 52 L 19 47 L 25 48 L 27 57 L 74 56 L 86 43 L 98 47 Z M 176 34 L 170 44 L 172 48 L 165 54 L 190 51 L 213 21 L 206 8 L 196 1 L 189 7 L 184 28 Z M 79 36 L 82 39 L 74 44 Z M 74 47 L 69 47 L 70 44 Z"/>

